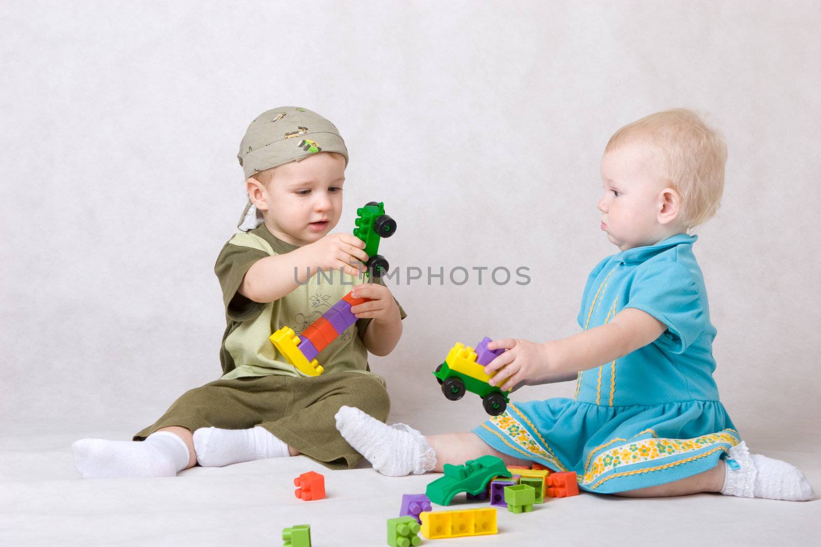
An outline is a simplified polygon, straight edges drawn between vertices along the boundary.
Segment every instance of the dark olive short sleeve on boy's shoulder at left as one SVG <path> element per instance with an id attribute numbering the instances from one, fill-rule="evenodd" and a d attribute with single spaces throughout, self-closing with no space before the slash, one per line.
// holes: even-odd
<path id="1" fill-rule="evenodd" d="M 232 321 L 248 321 L 254 319 L 262 311 L 264 304 L 254 302 L 239 294 L 237 289 L 242 284 L 245 273 L 268 253 L 257 248 L 244 247 L 231 243 L 225 244 L 217 257 L 213 271 L 217 274 L 219 285 L 222 288 L 222 303 L 225 313 Z"/>

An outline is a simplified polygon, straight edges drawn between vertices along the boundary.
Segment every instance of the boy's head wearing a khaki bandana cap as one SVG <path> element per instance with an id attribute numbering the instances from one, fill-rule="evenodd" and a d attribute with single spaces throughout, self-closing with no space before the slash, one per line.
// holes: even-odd
<path id="1" fill-rule="evenodd" d="M 304 245 L 337 225 L 348 152 L 330 121 L 305 108 L 274 108 L 251 122 L 237 158 L 249 198 L 241 229 L 261 220 L 277 238 Z"/>

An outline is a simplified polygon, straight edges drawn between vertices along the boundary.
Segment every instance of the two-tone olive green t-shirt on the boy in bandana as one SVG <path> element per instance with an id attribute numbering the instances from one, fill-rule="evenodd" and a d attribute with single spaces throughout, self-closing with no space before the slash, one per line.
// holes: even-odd
<path id="1" fill-rule="evenodd" d="M 219 360 L 222 380 L 245 376 L 305 376 L 289 364 L 274 348 L 268 337 L 282 326 L 290 326 L 296 335 L 351 292 L 362 280 L 340 271 L 318 272 L 304 285 L 268 303 L 253 302 L 239 294 L 242 278 L 258 260 L 290 253 L 298 248 L 274 237 L 264 224 L 249 232 L 239 232 L 222 247 L 214 271 L 222 287 L 227 326 L 222 336 Z M 291 274 L 293 275 L 293 274 Z M 300 268 L 299 279 L 305 279 Z M 398 303 L 397 303 L 398 304 Z M 399 307 L 401 318 L 405 311 Z M 368 367 L 368 352 L 363 338 L 370 319 L 359 319 L 323 349 L 317 361 L 323 374 L 356 371 L 374 375 Z"/>

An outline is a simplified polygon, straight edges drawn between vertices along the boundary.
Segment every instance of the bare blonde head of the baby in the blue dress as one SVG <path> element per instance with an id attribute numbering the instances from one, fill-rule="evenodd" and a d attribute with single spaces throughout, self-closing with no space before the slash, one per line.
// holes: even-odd
<path id="1" fill-rule="evenodd" d="M 686 108 L 625 125 L 602 157 L 602 230 L 623 251 L 708 221 L 721 203 L 725 162 L 721 134 Z"/>

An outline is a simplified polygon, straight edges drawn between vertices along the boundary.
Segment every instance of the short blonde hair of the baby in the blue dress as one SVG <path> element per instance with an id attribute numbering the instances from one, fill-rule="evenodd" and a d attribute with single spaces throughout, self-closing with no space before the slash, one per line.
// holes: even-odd
<path id="1" fill-rule="evenodd" d="M 722 134 L 689 108 L 644 116 L 610 137 L 604 153 L 639 141 L 662 155 L 662 175 L 681 194 L 680 220 L 687 230 L 718 212 L 724 193 L 727 144 Z"/>

